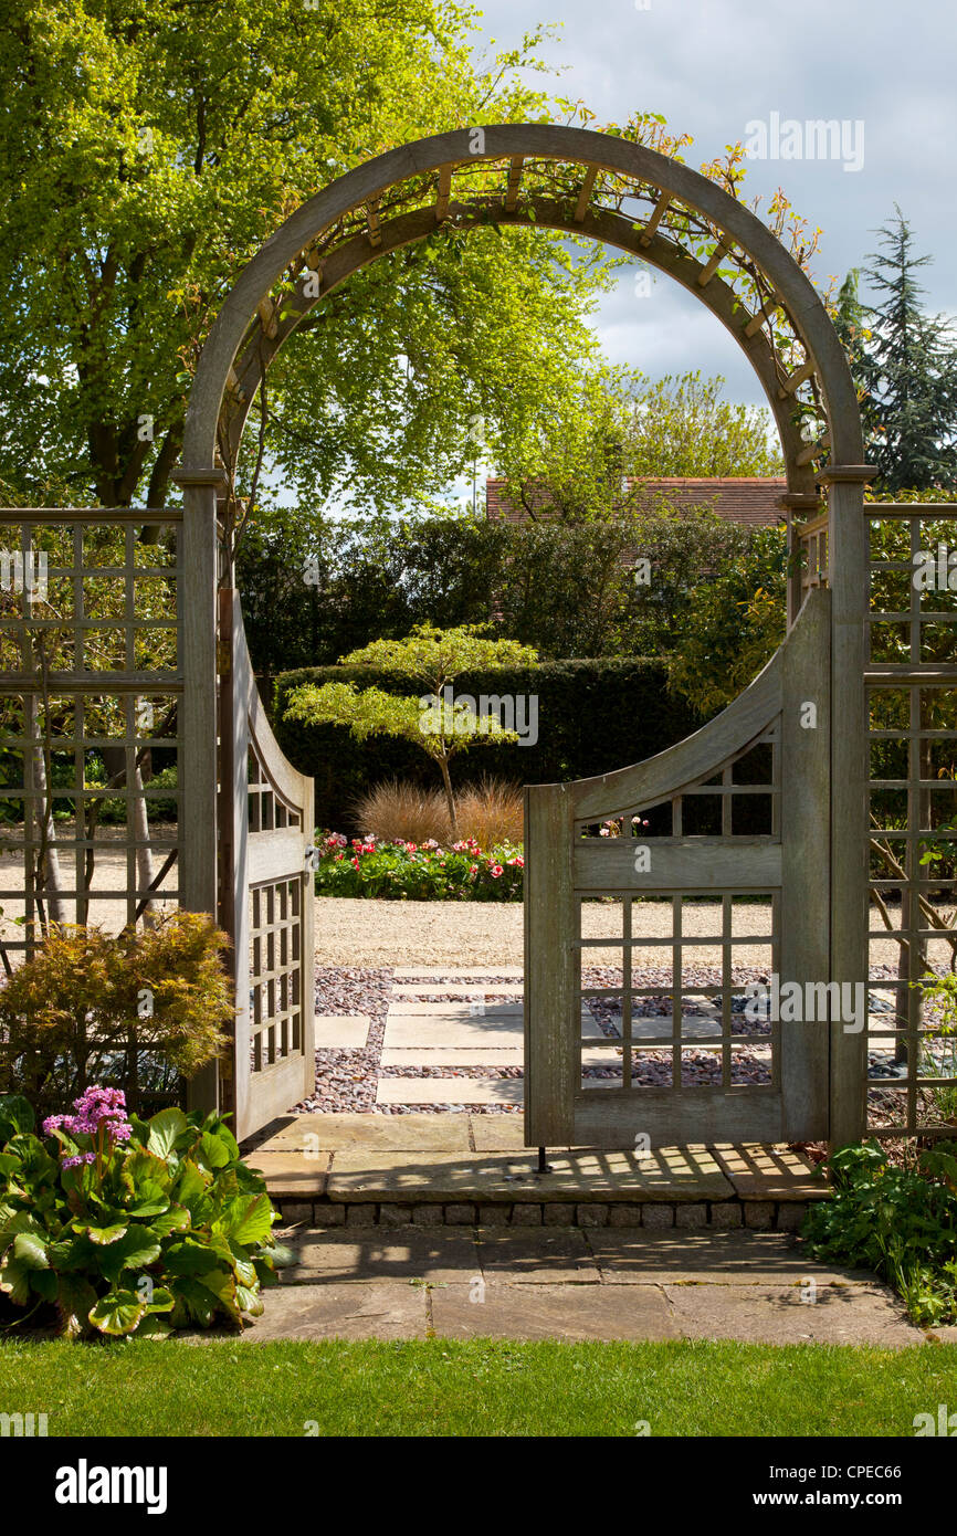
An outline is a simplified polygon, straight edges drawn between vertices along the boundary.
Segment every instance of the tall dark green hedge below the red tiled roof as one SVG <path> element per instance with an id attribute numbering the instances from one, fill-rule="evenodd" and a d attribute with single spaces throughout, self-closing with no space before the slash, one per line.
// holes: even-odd
<path id="1" fill-rule="evenodd" d="M 430 518 L 395 528 L 313 524 L 277 513 L 249 528 L 238 582 L 258 673 L 327 667 L 419 624 L 484 624 L 548 660 L 665 654 L 702 585 L 740 564 L 756 538 L 711 507 L 687 516 L 650 498 L 614 522 Z M 634 579 L 636 558 L 651 564 Z M 304 574 L 309 578 L 304 581 Z"/>

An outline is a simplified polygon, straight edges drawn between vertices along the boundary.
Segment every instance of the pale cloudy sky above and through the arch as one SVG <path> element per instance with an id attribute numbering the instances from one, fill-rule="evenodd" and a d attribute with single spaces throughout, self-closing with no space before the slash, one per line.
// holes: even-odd
<path id="1" fill-rule="evenodd" d="M 750 161 L 745 197 L 767 203 L 782 186 L 822 227 L 820 287 L 865 264 L 899 203 L 916 252 L 934 257 L 926 306 L 957 315 L 954 0 L 485 0 L 481 11 L 478 51 L 561 23 L 541 51 L 562 69 L 555 92 L 581 98 L 599 127 L 664 114 L 671 132 L 694 137 L 684 157 L 696 169 L 737 140 L 757 144 L 750 124 L 763 124 L 768 157 Z M 528 78 L 541 88 L 547 77 Z M 803 124 L 825 118 L 846 124 L 846 154 L 771 158 L 773 114 L 779 149 L 788 120 L 802 124 L 791 147 L 805 149 Z M 730 398 L 763 404 L 743 353 L 702 304 L 667 276 L 644 289 L 625 272 L 602 301 L 596 330 L 610 362 L 653 378 L 722 373 Z"/>

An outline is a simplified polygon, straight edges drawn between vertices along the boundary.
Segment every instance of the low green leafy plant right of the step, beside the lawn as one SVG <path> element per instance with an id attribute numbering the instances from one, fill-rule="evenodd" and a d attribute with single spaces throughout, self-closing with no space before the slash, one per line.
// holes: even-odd
<path id="1" fill-rule="evenodd" d="M 803 1226 L 811 1255 L 876 1270 L 916 1322 L 957 1318 L 955 1154 L 957 1143 L 940 1141 L 916 1167 L 899 1167 L 877 1141 L 842 1147 L 828 1161 L 833 1197 Z"/>

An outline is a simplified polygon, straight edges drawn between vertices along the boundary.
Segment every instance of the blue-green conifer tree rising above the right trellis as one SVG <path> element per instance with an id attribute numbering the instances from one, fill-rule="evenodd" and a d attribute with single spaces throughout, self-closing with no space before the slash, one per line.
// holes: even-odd
<path id="1" fill-rule="evenodd" d="M 837 313 L 863 395 L 868 459 L 889 495 L 957 482 L 957 333 L 922 309 L 925 289 L 914 273 L 932 257 L 912 253 L 911 227 L 897 204 L 894 212 L 894 223 L 877 230 L 885 249 L 863 269 L 880 303 L 862 306 L 849 273 Z"/>

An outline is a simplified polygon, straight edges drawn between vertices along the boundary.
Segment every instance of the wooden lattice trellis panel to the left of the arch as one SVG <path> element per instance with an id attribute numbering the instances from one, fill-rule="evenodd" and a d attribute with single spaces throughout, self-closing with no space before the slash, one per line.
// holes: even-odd
<path id="1" fill-rule="evenodd" d="M 118 931 L 178 902 L 181 791 L 151 779 L 180 766 L 178 524 L 172 510 L 0 510 L 8 963 L 49 920 Z"/>

